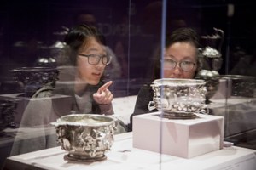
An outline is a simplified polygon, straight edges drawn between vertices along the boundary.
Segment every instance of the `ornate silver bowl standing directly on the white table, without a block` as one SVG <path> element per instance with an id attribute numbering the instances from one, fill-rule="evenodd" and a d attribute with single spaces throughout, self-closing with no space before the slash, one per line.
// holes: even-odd
<path id="1" fill-rule="evenodd" d="M 93 114 L 61 116 L 55 125 L 58 142 L 67 150 L 67 161 L 102 161 L 113 144 L 115 118 Z"/>

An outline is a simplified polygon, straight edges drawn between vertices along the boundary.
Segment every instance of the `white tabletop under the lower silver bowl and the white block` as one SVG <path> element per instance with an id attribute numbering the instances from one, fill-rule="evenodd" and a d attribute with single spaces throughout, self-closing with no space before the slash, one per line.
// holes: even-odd
<path id="1" fill-rule="evenodd" d="M 160 156 L 155 152 L 133 148 L 132 133 L 123 133 L 115 136 L 112 149 L 106 154 L 105 161 L 68 162 L 63 159 L 67 152 L 61 150 L 61 147 L 55 147 L 9 157 L 3 170 L 255 170 L 255 151 L 232 146 L 191 159 Z"/>

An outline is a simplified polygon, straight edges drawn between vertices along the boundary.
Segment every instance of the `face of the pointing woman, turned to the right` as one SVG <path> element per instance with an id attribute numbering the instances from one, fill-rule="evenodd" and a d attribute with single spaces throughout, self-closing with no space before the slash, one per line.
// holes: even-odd
<path id="1" fill-rule="evenodd" d="M 94 37 L 90 38 L 85 47 L 79 49 L 77 56 L 77 80 L 96 85 L 99 83 L 106 65 L 102 63 L 102 58 L 98 64 L 90 64 L 88 56 L 106 56 L 105 47 L 96 42 Z"/>

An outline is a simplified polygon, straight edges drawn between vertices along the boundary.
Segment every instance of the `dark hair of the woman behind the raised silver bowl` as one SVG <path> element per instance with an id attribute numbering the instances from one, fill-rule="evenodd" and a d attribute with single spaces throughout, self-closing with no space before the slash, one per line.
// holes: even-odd
<path id="1" fill-rule="evenodd" d="M 195 48 L 199 48 L 199 37 L 195 30 L 189 27 L 178 28 L 175 31 L 172 31 L 171 34 L 167 34 L 166 36 L 166 48 L 170 47 L 173 43 L 176 42 L 189 42 L 195 46 Z M 159 49 L 160 56 L 160 49 Z M 199 65 L 199 61 L 197 59 L 197 64 Z M 154 64 L 154 75 L 153 79 L 160 78 L 160 57 L 155 61 Z"/>

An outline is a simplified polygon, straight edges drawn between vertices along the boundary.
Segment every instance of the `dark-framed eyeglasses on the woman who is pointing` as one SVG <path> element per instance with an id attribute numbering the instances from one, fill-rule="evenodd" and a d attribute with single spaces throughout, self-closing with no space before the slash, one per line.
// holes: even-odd
<path id="1" fill-rule="evenodd" d="M 112 56 L 108 55 L 96 55 L 96 54 L 79 54 L 83 57 L 87 57 L 88 63 L 90 65 L 99 64 L 100 60 L 102 60 L 103 65 L 109 65 L 111 63 Z"/>

